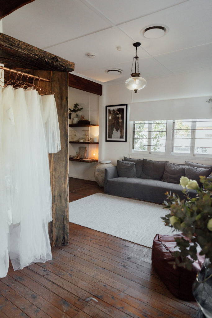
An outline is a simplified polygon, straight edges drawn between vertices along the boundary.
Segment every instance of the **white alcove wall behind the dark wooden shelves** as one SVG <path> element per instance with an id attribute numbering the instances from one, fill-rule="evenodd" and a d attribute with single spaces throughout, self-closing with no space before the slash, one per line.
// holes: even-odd
<path id="1" fill-rule="evenodd" d="M 73 108 L 75 103 L 79 104 L 79 107 L 83 107 L 83 110 L 79 113 L 85 116 L 91 124 L 99 124 L 99 95 L 81 91 L 76 88 L 69 87 L 68 90 L 68 105 L 69 108 Z M 75 117 L 72 114 L 72 117 Z M 69 127 L 69 131 L 72 129 L 77 130 L 78 138 L 83 136 L 82 130 L 90 130 L 90 137 L 99 135 L 99 127 Z M 95 156 L 98 158 L 98 145 L 91 144 L 69 144 L 69 155 L 75 155 L 79 150 L 79 146 L 87 147 L 86 156 Z M 92 162 L 72 162 L 69 161 L 69 176 L 79 179 L 95 180 L 94 179 L 94 168 L 98 163 Z"/>

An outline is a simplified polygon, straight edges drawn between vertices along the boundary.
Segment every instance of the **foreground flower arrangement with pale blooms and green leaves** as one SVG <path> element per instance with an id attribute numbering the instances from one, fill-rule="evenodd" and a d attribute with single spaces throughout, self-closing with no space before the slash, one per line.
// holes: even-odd
<path id="1" fill-rule="evenodd" d="M 170 212 L 161 217 L 165 225 L 180 231 L 187 239 L 176 238 L 178 249 L 173 253 L 175 261 L 173 267 L 185 267 L 191 270 L 193 260 L 197 260 L 197 245 L 200 246 L 200 255 L 209 259 L 208 267 L 212 267 L 212 178 L 200 176 L 199 187 L 195 180 L 189 180 L 182 176 L 180 184 L 185 199 L 180 200 L 178 196 L 168 194 L 168 201 L 164 201 L 165 209 Z M 188 189 L 197 191 L 195 198 L 188 196 Z M 190 256 L 188 258 L 187 256 Z"/>

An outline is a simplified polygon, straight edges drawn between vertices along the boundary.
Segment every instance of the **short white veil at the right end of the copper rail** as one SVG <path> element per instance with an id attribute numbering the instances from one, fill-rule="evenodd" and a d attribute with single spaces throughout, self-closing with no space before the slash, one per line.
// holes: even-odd
<path id="1" fill-rule="evenodd" d="M 42 104 L 48 153 L 56 153 L 61 149 L 61 146 L 58 113 L 54 95 L 43 95 Z"/>

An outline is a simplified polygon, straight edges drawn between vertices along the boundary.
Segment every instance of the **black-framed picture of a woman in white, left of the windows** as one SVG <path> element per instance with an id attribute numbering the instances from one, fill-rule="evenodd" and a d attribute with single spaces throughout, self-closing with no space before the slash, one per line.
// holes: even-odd
<path id="1" fill-rule="evenodd" d="M 127 142 L 127 104 L 106 106 L 106 139 Z"/>

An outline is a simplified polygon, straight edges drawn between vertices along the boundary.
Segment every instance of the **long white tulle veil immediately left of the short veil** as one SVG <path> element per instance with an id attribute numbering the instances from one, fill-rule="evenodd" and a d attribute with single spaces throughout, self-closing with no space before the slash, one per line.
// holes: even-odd
<path id="1" fill-rule="evenodd" d="M 32 147 L 34 147 L 36 168 L 39 180 L 39 196 L 37 199 L 40 200 L 43 217 L 46 218 L 47 222 L 50 222 L 52 221 L 52 195 L 49 172 L 49 158 L 46 146 L 46 135 L 40 105 L 40 98 L 38 92 L 33 89 L 25 90 L 25 98 L 31 126 L 31 143 Z"/>

